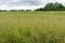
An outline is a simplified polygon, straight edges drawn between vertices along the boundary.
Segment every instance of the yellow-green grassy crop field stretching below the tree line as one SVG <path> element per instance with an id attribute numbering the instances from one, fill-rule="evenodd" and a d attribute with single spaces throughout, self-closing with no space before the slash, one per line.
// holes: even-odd
<path id="1" fill-rule="evenodd" d="M 0 43 L 65 43 L 65 12 L 0 12 Z"/>

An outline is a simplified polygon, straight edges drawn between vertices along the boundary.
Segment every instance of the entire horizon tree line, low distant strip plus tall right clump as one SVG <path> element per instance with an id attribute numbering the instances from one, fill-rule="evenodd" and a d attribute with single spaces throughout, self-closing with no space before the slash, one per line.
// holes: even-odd
<path id="1" fill-rule="evenodd" d="M 0 10 L 0 12 L 1 11 L 5 12 L 8 10 Z M 9 10 L 9 11 L 31 11 L 31 10 Z M 58 2 L 54 3 L 49 2 L 43 8 L 37 9 L 35 11 L 65 11 L 65 5 Z"/>

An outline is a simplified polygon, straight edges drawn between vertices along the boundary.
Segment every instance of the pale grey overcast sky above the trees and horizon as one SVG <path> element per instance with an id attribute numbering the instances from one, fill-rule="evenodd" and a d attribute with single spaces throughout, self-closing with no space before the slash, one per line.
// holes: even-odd
<path id="1" fill-rule="evenodd" d="M 48 2 L 65 4 L 65 0 L 0 0 L 0 10 L 35 10 L 44 6 Z"/>

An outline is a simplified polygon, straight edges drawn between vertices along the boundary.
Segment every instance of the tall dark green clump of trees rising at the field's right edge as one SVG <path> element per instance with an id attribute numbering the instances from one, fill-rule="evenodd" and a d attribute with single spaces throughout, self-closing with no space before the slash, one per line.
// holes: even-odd
<path id="1" fill-rule="evenodd" d="M 65 11 L 65 6 L 58 2 L 47 3 L 44 8 L 40 8 L 35 11 Z"/>

